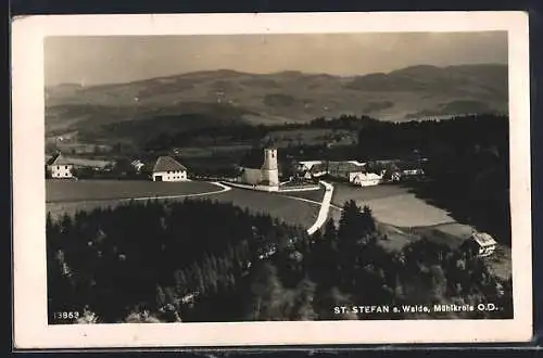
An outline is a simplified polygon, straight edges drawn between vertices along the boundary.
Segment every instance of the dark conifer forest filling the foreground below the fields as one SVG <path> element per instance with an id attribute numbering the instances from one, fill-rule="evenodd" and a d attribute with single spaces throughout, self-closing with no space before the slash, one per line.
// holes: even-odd
<path id="1" fill-rule="evenodd" d="M 307 235 L 213 201 L 130 202 L 47 218 L 50 323 L 510 318 L 512 282 L 428 239 L 384 251 L 371 209 L 345 203 Z M 337 315 L 338 305 L 473 304 L 494 312 Z M 227 307 L 227 309 L 225 309 Z M 58 312 L 76 312 L 59 318 Z"/>

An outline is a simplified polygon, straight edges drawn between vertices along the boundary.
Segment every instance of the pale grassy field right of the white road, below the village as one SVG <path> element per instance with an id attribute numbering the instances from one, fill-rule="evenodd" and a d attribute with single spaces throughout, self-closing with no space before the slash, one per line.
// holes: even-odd
<path id="1" fill-rule="evenodd" d="M 343 206 L 354 200 L 358 206 L 368 205 L 380 222 L 396 227 L 419 227 L 454 222 L 446 210 L 432 206 L 399 186 L 367 188 L 334 184 L 332 204 Z"/>

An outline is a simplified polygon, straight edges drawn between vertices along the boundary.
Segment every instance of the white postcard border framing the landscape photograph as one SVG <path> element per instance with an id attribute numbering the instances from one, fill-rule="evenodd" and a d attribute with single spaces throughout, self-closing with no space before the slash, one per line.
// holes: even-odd
<path id="1" fill-rule="evenodd" d="M 487 30 L 508 31 L 514 319 L 47 324 L 45 37 Z M 17 17 L 12 24 L 15 347 L 34 349 L 529 341 L 532 336 L 529 98 L 528 15 L 522 12 Z"/>

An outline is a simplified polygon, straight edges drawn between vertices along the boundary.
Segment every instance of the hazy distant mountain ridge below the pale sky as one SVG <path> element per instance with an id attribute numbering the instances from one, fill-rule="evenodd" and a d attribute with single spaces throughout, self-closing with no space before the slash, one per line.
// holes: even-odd
<path id="1" fill-rule="evenodd" d="M 346 77 L 217 69 L 127 84 L 64 84 L 46 88 L 46 128 L 85 131 L 101 125 L 194 114 L 214 123 L 280 124 L 341 114 L 406 120 L 428 115 L 506 113 L 507 76 L 507 65 L 470 64 L 417 65 Z"/>

